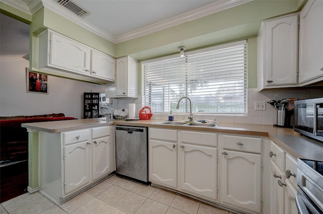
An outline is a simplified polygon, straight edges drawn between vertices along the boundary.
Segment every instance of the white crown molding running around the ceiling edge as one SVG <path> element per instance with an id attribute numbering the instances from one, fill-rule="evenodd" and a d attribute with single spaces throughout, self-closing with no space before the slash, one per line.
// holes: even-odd
<path id="1" fill-rule="evenodd" d="M 14 8 L 17 8 L 27 14 L 34 14 L 42 6 L 71 20 L 72 22 L 78 24 L 79 26 L 95 33 L 96 35 L 109 40 L 115 44 L 124 42 L 130 39 L 134 39 L 140 36 L 144 36 L 153 32 L 164 30 L 185 22 L 189 22 L 213 13 L 227 10 L 254 0 L 229 0 L 229 1 L 217 1 L 210 5 L 204 6 L 202 8 L 195 9 L 193 11 L 181 14 L 179 16 L 140 28 L 129 33 L 122 34 L 120 36 L 112 36 L 111 34 L 103 31 L 102 29 L 92 25 L 86 20 L 78 17 L 77 15 L 71 13 L 68 9 L 61 7 L 53 0 L 0 0 Z M 26 4 L 27 2 L 28 4 Z"/>

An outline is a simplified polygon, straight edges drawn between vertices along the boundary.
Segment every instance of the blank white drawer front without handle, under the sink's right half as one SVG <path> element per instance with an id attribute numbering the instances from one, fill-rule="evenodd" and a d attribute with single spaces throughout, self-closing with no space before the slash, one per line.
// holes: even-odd
<path id="1" fill-rule="evenodd" d="M 182 142 L 189 142 L 191 144 L 217 146 L 217 134 L 207 132 L 195 131 L 181 131 Z"/>

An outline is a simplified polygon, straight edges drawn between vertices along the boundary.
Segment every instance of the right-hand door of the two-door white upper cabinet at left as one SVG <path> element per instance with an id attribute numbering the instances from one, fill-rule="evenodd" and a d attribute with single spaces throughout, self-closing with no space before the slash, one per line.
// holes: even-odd
<path id="1" fill-rule="evenodd" d="M 106 54 L 92 50 L 91 74 L 104 80 L 116 80 L 116 60 Z"/>

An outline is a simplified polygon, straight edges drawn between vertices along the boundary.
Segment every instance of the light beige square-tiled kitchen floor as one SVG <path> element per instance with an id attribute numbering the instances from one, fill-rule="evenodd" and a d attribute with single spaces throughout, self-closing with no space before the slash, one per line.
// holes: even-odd
<path id="1" fill-rule="evenodd" d="M 184 195 L 112 176 L 57 206 L 40 193 L 0 206 L 0 214 L 233 214 Z"/>

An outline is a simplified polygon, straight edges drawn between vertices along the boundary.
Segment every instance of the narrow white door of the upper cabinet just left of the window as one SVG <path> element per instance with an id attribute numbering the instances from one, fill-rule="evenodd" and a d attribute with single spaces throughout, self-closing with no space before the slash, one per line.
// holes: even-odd
<path id="1" fill-rule="evenodd" d="M 117 96 L 128 95 L 128 61 L 127 58 L 117 59 Z"/>

